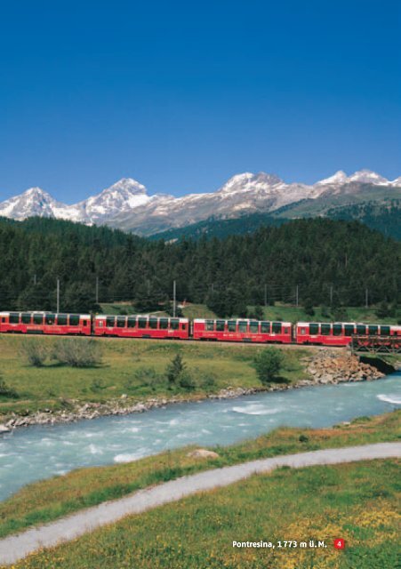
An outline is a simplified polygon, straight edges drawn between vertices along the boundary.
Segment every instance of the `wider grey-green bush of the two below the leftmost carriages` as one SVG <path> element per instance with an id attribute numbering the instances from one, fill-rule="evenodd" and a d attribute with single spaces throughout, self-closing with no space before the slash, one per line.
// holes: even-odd
<path id="1" fill-rule="evenodd" d="M 56 342 L 53 358 L 71 367 L 94 367 L 101 364 L 99 342 L 81 338 L 66 338 Z"/>

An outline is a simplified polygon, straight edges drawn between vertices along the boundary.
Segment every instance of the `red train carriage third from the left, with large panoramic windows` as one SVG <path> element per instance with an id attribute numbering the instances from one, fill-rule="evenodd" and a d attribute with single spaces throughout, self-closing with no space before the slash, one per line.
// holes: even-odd
<path id="1" fill-rule="evenodd" d="M 293 326 L 290 322 L 231 319 L 210 320 L 196 318 L 193 324 L 194 340 L 254 341 L 291 343 Z"/>

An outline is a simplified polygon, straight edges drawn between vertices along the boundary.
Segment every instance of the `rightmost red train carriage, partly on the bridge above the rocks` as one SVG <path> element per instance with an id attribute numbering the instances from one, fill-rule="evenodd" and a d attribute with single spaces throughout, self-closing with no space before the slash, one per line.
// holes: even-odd
<path id="1" fill-rule="evenodd" d="M 324 346 L 348 346 L 353 336 L 366 338 L 401 335 L 400 326 L 366 325 L 356 322 L 298 322 L 295 330 L 297 344 L 320 344 Z"/>

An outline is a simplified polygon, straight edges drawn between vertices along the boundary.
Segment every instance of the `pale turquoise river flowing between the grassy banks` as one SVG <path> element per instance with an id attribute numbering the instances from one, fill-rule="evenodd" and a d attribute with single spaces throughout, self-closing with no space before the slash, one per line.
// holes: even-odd
<path id="1" fill-rule="evenodd" d="M 401 373 L 379 381 L 169 405 L 146 413 L 16 429 L 0 437 L 0 500 L 79 467 L 134 461 L 183 445 L 231 445 L 271 429 L 329 427 L 401 405 Z"/>

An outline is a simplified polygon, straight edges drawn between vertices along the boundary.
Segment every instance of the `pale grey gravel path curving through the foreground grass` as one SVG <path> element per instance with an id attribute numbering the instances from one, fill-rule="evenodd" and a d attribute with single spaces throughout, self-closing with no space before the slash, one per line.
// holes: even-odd
<path id="1" fill-rule="evenodd" d="M 39 548 L 52 547 L 91 532 L 101 525 L 111 524 L 124 516 L 140 514 L 167 502 L 177 501 L 197 492 L 227 486 L 256 473 L 269 472 L 280 466 L 295 469 L 321 464 L 365 461 L 371 459 L 401 458 L 401 443 L 350 446 L 325 449 L 312 453 L 289 454 L 260 461 L 245 462 L 222 469 L 207 470 L 177 478 L 149 489 L 132 493 L 116 501 L 108 501 L 56 522 L 30 529 L 0 540 L 0 564 L 9 565 Z"/>

